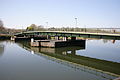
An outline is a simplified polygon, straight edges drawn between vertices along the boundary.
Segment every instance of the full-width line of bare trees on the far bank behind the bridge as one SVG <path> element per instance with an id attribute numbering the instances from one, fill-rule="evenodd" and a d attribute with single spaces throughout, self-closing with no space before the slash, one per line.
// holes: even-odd
<path id="1" fill-rule="evenodd" d="M 120 29 L 118 29 L 120 30 Z M 101 29 L 101 28 L 79 28 L 79 27 L 50 27 L 45 28 L 43 25 L 37 26 L 36 24 L 31 24 L 26 29 L 9 29 L 4 27 L 3 21 L 0 20 L 0 34 L 15 34 L 25 31 L 75 31 L 75 32 L 102 32 L 102 33 L 120 33 L 115 29 Z"/>

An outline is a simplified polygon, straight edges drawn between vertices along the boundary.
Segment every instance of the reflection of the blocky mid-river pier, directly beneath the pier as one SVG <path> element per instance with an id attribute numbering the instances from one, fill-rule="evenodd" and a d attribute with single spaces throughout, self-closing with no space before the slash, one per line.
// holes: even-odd
<path id="1" fill-rule="evenodd" d="M 40 52 L 40 53 L 51 53 L 51 54 L 61 54 L 61 55 L 76 55 L 77 50 L 84 50 L 85 47 L 62 47 L 62 48 L 34 48 L 31 47 L 32 50 Z M 38 49 L 38 50 L 36 50 Z"/>

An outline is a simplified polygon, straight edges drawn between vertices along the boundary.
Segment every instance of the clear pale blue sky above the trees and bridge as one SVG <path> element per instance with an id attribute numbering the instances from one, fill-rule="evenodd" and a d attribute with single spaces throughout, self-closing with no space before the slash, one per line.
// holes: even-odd
<path id="1" fill-rule="evenodd" d="M 120 28 L 120 0 L 0 0 L 0 19 L 8 28 L 30 24 L 49 27 Z"/>

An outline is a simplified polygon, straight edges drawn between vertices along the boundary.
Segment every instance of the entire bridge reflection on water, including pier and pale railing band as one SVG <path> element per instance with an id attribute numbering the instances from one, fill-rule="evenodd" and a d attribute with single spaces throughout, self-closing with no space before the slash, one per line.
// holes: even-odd
<path id="1" fill-rule="evenodd" d="M 31 47 L 28 42 L 19 42 L 19 46 L 57 63 L 69 66 L 75 70 L 82 70 L 91 74 L 112 80 L 120 75 L 120 63 L 105 61 L 77 55 L 77 50 L 85 50 L 84 46 L 46 48 Z"/>

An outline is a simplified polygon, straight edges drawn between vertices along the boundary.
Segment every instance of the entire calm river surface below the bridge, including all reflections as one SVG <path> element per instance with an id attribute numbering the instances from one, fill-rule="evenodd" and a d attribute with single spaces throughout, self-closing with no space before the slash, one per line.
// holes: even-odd
<path id="1" fill-rule="evenodd" d="M 64 48 L 27 44 L 0 41 L 0 80 L 112 80 L 120 75 L 120 40 L 87 39 L 84 47 Z"/>

